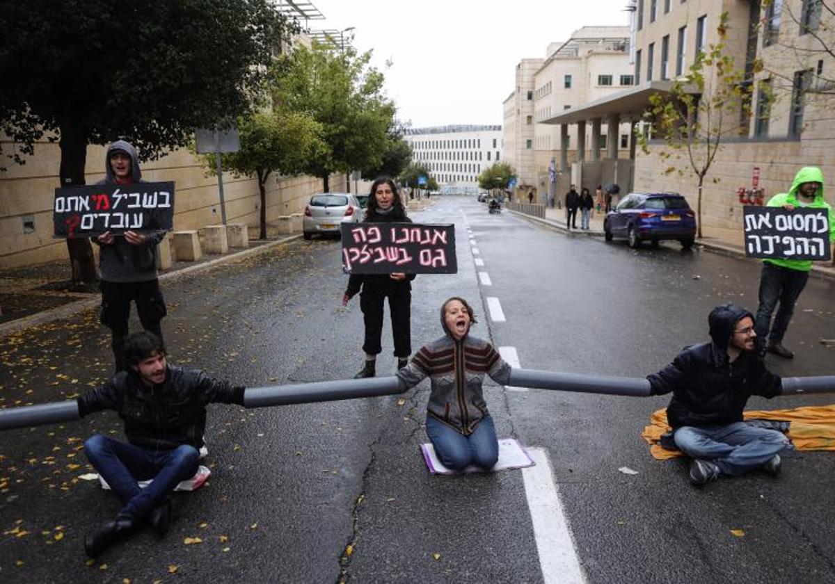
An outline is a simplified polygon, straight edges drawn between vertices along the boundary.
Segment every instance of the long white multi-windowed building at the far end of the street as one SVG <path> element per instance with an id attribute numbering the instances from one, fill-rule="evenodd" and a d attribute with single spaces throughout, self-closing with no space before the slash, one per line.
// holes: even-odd
<path id="1" fill-rule="evenodd" d="M 412 159 L 427 164 L 442 189 L 473 192 L 478 175 L 502 161 L 501 126 L 451 125 L 407 128 L 404 138 Z"/>

